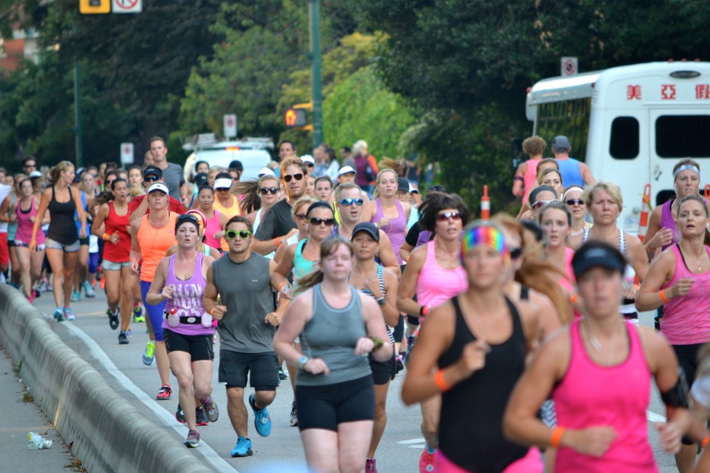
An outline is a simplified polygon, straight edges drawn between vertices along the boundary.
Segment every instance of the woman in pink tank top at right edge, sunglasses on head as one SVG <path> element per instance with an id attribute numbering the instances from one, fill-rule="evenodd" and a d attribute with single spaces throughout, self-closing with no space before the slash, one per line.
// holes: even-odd
<path id="1" fill-rule="evenodd" d="M 705 201 L 687 195 L 677 204 L 680 241 L 651 264 L 638 291 L 638 310 L 663 307 L 661 334 L 670 342 L 688 384 L 695 379 L 699 349 L 710 341 L 710 246 Z M 681 472 L 692 467 L 696 445 L 689 439 L 676 456 Z"/>

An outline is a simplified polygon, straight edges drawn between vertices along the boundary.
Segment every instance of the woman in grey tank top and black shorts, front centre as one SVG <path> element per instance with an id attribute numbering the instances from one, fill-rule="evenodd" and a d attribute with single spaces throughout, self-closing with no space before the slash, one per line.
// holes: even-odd
<path id="1" fill-rule="evenodd" d="M 273 342 L 299 368 L 298 428 L 313 471 L 364 470 L 374 418 L 367 357 L 392 356 L 379 305 L 348 283 L 353 264 L 349 241 L 324 240 L 320 268 L 302 280 Z M 293 347 L 296 337 L 302 354 Z"/>

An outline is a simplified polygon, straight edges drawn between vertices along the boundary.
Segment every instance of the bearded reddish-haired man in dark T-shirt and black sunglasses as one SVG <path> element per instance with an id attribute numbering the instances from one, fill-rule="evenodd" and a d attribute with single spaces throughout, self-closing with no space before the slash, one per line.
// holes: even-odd
<path id="1" fill-rule="evenodd" d="M 306 192 L 306 165 L 300 159 L 286 159 L 281 162 L 279 175 L 286 198 L 276 202 L 259 224 L 253 242 L 253 251 L 258 254 L 276 251 L 278 246 L 298 233 L 291 217 L 291 206 Z"/>

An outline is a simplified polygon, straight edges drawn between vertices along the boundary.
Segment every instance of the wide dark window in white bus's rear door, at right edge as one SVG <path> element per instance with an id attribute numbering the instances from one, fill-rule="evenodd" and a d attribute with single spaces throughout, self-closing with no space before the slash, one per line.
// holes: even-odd
<path id="1" fill-rule="evenodd" d="M 664 115 L 656 119 L 656 154 L 661 158 L 710 157 L 710 115 Z"/>

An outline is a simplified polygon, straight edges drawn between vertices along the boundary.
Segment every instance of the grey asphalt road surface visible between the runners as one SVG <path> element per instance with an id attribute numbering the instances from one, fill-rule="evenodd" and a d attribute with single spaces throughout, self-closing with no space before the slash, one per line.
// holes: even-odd
<path id="1" fill-rule="evenodd" d="M 156 435 L 170 435 L 182 442 L 187 435 L 187 426 L 175 420 L 175 408 L 178 404 L 177 381 L 171 376 L 173 398 L 170 401 L 155 401 L 155 393 L 160 387 L 158 372 L 153 366 L 145 366 L 141 355 L 148 335 L 144 323 L 133 323 L 133 335 L 130 344 L 119 345 L 118 332 L 109 327 L 106 316 L 106 301 L 102 291 L 97 290 L 97 298 L 83 299 L 72 303 L 77 315 L 73 322 L 55 322 L 51 318 L 54 310 L 52 293 L 43 293 L 35 300 L 35 307 L 45 314 L 46 320 L 55 332 L 99 371 L 104 379 L 114 388 L 119 396 L 126 398 L 138 411 L 146 415 L 156 425 Z M 641 317 L 643 325 L 652 325 L 650 313 Z M 219 341 L 215 345 L 215 354 L 219 352 Z M 269 413 L 273 420 L 271 436 L 259 437 L 253 428 L 253 414 L 249 410 L 249 434 L 253 444 L 253 456 L 231 458 L 229 450 L 234 447 L 236 434 L 231 428 L 226 414 L 226 393 L 223 385 L 217 385 L 217 359 L 214 364 L 214 398 L 221 409 L 219 420 L 212 425 L 199 428 L 202 447 L 191 450 L 194 455 L 202 456 L 219 471 L 264 473 L 290 472 L 306 473 L 305 458 L 302 451 L 298 430 L 290 427 L 289 413 L 293 391 L 290 383 L 284 381 L 278 388 L 277 395 Z M 420 433 L 421 415 L 418 407 L 405 407 L 400 401 L 399 392 L 404 371 L 391 383 L 388 397 L 388 425 L 376 455 L 378 470 L 382 473 L 412 473 L 417 471 L 420 453 L 424 441 Z M 106 406 L 110 409 L 111 406 Z M 652 394 L 648 410 L 649 435 L 654 447 L 661 472 L 676 472 L 671 455 L 660 452 L 655 440 L 652 421 L 662 420 L 665 409 L 657 391 Z M 273 467 L 273 469 L 271 468 Z"/>

